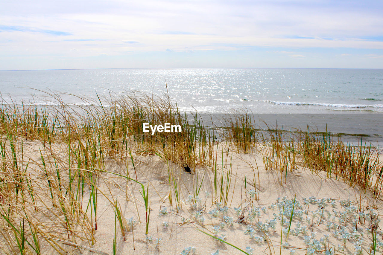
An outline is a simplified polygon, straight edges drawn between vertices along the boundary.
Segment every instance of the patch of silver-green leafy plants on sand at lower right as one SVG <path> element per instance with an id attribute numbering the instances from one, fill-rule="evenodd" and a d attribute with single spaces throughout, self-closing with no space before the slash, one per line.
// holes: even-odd
<path id="1" fill-rule="evenodd" d="M 324 251 L 325 254 L 332 255 L 335 252 L 335 249 L 331 248 L 332 244 L 329 241 L 330 234 L 324 234 L 323 237 L 316 239 L 316 232 L 309 232 L 309 230 L 312 231 L 313 226 L 320 226 L 322 224 L 329 232 L 335 230 L 333 231 L 333 236 L 342 243 L 339 244 L 337 250 L 342 252 L 345 247 L 349 247 L 348 245 L 352 244 L 354 249 L 354 253 L 352 254 L 354 255 L 363 254 L 363 252 L 370 249 L 370 241 L 366 240 L 368 233 L 381 235 L 381 231 L 374 232 L 380 223 L 379 216 L 374 209 L 369 209 L 368 212 L 359 212 L 358 208 L 353 206 L 348 199 L 338 202 L 338 205 L 342 208 L 340 211 L 333 209 L 336 207 L 335 199 L 317 199 L 315 197 L 310 197 L 303 198 L 303 201 L 303 205 L 299 201 L 296 201 L 295 209 L 293 210 L 294 203 L 292 200 L 287 199 L 286 197 L 277 198 L 277 203 L 271 204 L 268 208 L 278 208 L 280 210 L 279 215 L 273 213 L 273 221 L 266 221 L 266 223 L 272 227 L 272 222 L 280 220 L 282 226 L 284 226 L 282 234 L 287 237 L 289 234 L 288 226 L 291 226 L 291 222 L 295 220 L 295 227 L 290 227 L 290 234 L 296 236 L 303 235 L 303 242 L 306 245 L 307 254 L 313 255 L 319 251 Z M 307 216 L 309 211 L 306 208 L 303 208 L 303 206 L 306 207 L 308 204 L 315 204 L 317 206 L 316 209 L 310 211 L 313 219 Z M 302 216 L 307 217 L 307 219 L 304 219 Z M 307 225 L 304 225 L 305 223 Z M 262 225 L 262 222 L 258 222 L 258 230 L 265 230 Z M 363 225 L 365 228 L 363 228 Z M 250 238 L 254 239 L 256 236 L 255 232 L 256 231 L 251 226 L 248 226 L 245 234 L 249 234 Z M 375 236 L 372 236 L 373 240 L 376 240 Z M 286 247 L 286 243 L 283 245 Z M 376 242 L 376 244 L 373 245 L 373 251 L 383 248 L 382 245 L 383 242 Z M 292 253 L 294 253 L 294 251 Z"/>

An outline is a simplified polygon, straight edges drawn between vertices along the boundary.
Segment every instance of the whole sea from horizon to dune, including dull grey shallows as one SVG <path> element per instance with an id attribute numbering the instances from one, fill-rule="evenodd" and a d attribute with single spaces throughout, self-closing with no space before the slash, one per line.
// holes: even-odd
<path id="1" fill-rule="evenodd" d="M 181 111 L 222 122 L 253 114 L 260 128 L 330 131 L 383 144 L 383 69 L 76 69 L 0 71 L 3 104 L 88 104 L 84 98 L 169 97 Z M 213 118 L 211 117 L 213 116 Z"/>

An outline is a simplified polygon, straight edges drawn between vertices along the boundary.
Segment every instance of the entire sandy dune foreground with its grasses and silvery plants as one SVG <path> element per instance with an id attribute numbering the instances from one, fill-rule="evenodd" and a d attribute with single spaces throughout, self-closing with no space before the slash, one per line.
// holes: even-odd
<path id="1" fill-rule="evenodd" d="M 246 111 L 208 123 L 150 94 L 83 100 L 3 106 L 4 254 L 381 252 L 382 158 L 363 136 Z"/>

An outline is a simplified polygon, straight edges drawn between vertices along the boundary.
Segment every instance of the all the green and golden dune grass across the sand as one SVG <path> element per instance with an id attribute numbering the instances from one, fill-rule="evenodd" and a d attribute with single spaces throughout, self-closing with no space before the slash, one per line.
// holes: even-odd
<path id="1" fill-rule="evenodd" d="M 326 172 L 328 178 L 342 178 L 351 186 L 372 191 L 376 197 L 383 195 L 383 165 L 375 148 L 362 141 L 359 145 L 344 144 L 327 132 L 309 130 L 260 130 L 248 111 L 226 117 L 226 127 L 219 133 L 198 113 L 182 113 L 170 98 L 98 96 L 96 101 L 79 98 L 84 104 L 73 106 L 66 105 L 57 94 L 48 96 L 57 106 L 14 104 L 0 109 L 0 246 L 5 253 L 40 254 L 42 245 L 48 245 L 65 254 L 65 242 L 92 246 L 98 227 L 99 196 L 110 201 L 125 239 L 133 225 L 126 222 L 117 198 L 100 189 L 100 183 L 110 183 L 106 175 L 126 180 L 127 200 L 128 190 L 139 190 L 143 202 L 133 201 L 136 208 L 137 203 L 144 205 L 148 234 L 149 190 L 153 187 L 143 185 L 147 180 L 137 176 L 136 158 L 141 156 L 156 156 L 168 165 L 168 196 L 170 204 L 174 199 L 177 212 L 183 201 L 182 183 L 169 162 L 191 169 L 193 185 L 188 193 L 194 195 L 193 199 L 210 181 L 207 186 L 212 187 L 212 204 L 228 206 L 236 183 L 234 180 L 232 184 L 232 153 L 260 152 L 265 169 L 277 171 L 281 185 L 286 183 L 288 172 L 303 165 Z M 143 131 L 143 123 L 179 124 L 181 132 L 151 135 Z M 31 141 L 38 143 L 31 148 Z M 224 151 L 218 149 L 223 141 L 228 144 L 225 162 Z M 38 157 L 30 154 L 31 150 L 39 151 Z M 123 162 L 126 172 L 107 171 L 106 162 L 110 160 Z M 129 172 L 128 165 L 134 173 Z M 252 167 L 253 172 L 255 168 L 258 166 Z M 211 178 L 202 175 L 204 169 L 210 170 Z M 255 172 L 253 182 L 255 190 Z M 116 237 L 114 242 L 116 245 Z"/>

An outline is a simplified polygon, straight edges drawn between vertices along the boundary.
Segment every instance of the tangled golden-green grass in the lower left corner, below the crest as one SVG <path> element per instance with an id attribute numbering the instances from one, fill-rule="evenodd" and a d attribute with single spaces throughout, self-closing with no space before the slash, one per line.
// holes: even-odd
<path id="1" fill-rule="evenodd" d="M 47 155 L 28 159 L 26 149 L 30 148 L 14 135 L 7 134 L 2 141 L 0 238 L 7 244 L 2 245 L 4 252 L 40 253 L 43 245 L 64 252 L 57 240 L 91 245 L 92 219 L 81 203 L 81 183 L 87 178 L 76 169 L 69 178 Z"/>

